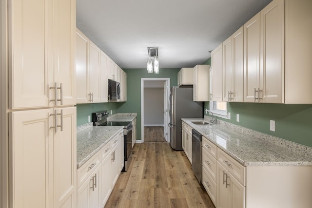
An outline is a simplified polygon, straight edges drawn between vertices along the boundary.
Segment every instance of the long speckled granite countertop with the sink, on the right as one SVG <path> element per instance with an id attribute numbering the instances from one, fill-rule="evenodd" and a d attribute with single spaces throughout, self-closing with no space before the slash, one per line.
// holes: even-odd
<path id="1" fill-rule="evenodd" d="M 194 120 L 208 121 L 204 118 L 182 118 L 182 121 L 244 166 L 312 166 L 312 149 L 309 147 L 277 137 L 270 138 L 271 142 L 268 139 L 271 136 L 268 134 L 243 127 L 237 131 L 235 128 L 239 126 L 230 124 L 236 127 L 229 127 L 227 122 L 200 126 L 191 122 Z"/>

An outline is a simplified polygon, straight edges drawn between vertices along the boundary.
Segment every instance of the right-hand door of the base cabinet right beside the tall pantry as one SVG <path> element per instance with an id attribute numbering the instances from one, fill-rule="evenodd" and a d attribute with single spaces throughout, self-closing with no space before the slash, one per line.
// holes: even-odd
<path id="1" fill-rule="evenodd" d="M 101 174 L 101 166 L 94 171 L 89 180 L 90 195 L 89 195 L 89 208 L 99 208 L 100 203 L 100 189 L 99 189 L 99 176 Z"/>

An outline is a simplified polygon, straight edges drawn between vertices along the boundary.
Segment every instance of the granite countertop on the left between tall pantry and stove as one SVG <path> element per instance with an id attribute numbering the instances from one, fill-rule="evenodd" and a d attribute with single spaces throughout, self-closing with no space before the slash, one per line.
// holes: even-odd
<path id="1" fill-rule="evenodd" d="M 92 123 L 88 123 L 78 127 L 77 169 L 117 135 L 120 130 L 123 130 L 123 126 L 92 126 Z"/>

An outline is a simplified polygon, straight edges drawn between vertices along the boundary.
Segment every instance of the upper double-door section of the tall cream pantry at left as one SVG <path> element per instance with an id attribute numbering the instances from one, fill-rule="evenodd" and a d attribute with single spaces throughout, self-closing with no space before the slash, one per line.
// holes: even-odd
<path id="1" fill-rule="evenodd" d="M 76 4 L 15 0 L 9 23 L 9 108 L 76 104 Z"/>

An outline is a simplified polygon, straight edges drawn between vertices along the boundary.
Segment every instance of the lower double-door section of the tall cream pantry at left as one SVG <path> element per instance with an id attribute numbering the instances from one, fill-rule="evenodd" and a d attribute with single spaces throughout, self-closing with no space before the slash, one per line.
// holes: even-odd
<path id="1" fill-rule="evenodd" d="M 10 207 L 76 208 L 76 107 L 11 112 L 9 120 Z"/>

